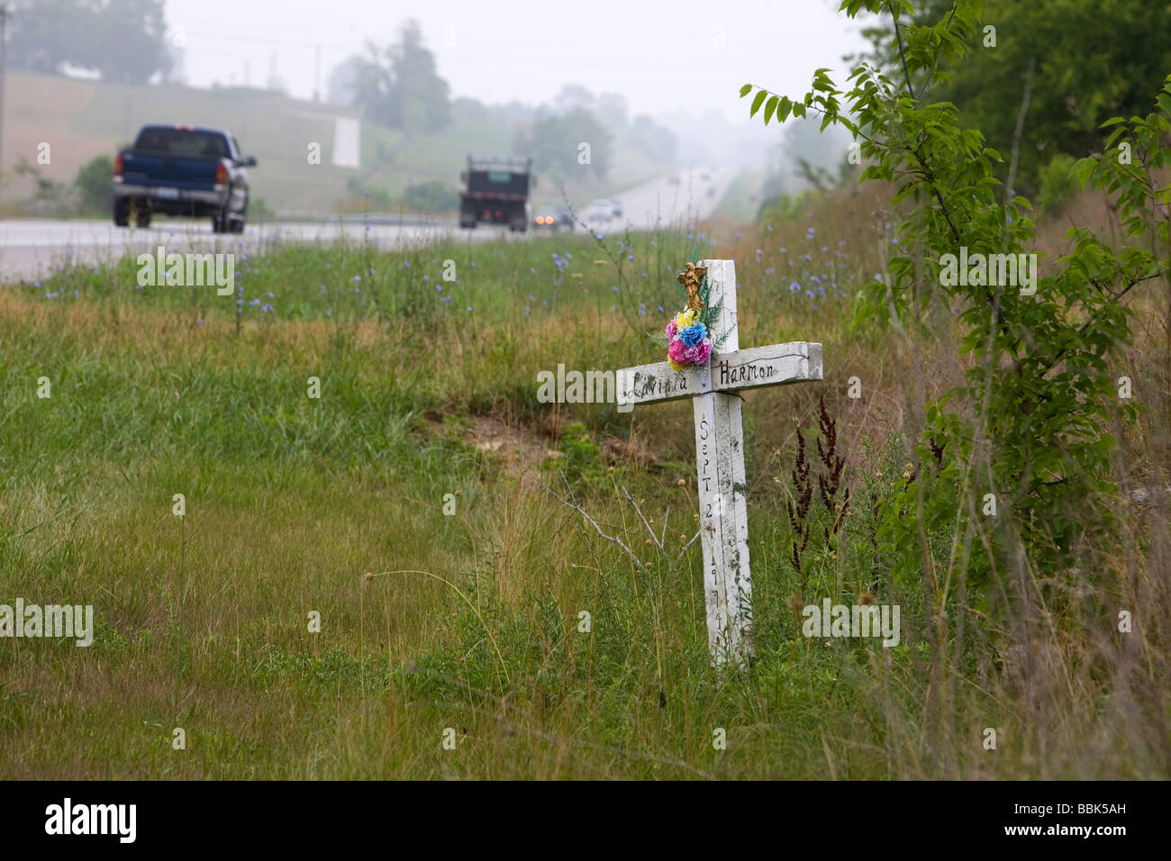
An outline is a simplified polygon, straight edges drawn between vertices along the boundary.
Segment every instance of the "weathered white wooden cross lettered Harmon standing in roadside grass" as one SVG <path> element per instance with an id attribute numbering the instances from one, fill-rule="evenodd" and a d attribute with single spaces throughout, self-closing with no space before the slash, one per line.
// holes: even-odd
<path id="1" fill-rule="evenodd" d="M 753 654 L 752 573 L 745 508 L 744 422 L 740 389 L 821 380 L 820 343 L 782 343 L 741 350 L 737 332 L 735 265 L 704 260 L 708 299 L 724 299 L 711 337 L 727 337 L 706 365 L 683 371 L 666 362 L 623 368 L 616 375 L 619 404 L 692 398 L 699 528 L 704 549 L 707 644 L 715 665 L 746 665 Z"/>

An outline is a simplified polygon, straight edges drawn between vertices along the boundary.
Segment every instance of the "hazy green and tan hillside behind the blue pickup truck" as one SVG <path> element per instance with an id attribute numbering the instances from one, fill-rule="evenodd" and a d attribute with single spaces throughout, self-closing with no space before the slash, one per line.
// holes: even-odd
<path id="1" fill-rule="evenodd" d="M 358 112 L 331 104 L 287 98 L 248 88 L 192 89 L 173 86 L 130 87 L 13 71 L 5 108 L 5 199 L 32 193 L 32 182 L 13 175 L 21 157 L 36 163 L 37 145 L 52 146 L 44 177 L 68 183 L 94 156 L 112 153 L 145 123 L 222 127 L 235 134 L 259 166 L 252 171 L 253 198 L 280 213 L 322 213 L 342 209 L 350 186 L 383 189 L 396 198 L 413 183 L 440 180 L 454 189 L 467 152 L 509 153 L 514 130 L 482 122 L 459 105 L 441 132 L 406 137 L 362 123 L 362 166 L 333 166 L 333 116 Z M 321 164 L 308 163 L 310 142 L 321 144 Z M 660 166 L 642 153 L 619 149 L 605 183 L 567 185 L 575 198 L 615 192 L 644 182 Z M 539 200 L 560 198 L 553 183 L 537 189 Z"/>

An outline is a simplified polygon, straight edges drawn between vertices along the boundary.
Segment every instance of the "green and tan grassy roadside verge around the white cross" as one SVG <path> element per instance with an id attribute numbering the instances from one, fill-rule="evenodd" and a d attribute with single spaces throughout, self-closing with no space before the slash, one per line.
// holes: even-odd
<path id="1" fill-rule="evenodd" d="M 926 732 L 927 619 L 916 585 L 883 579 L 864 501 L 840 541 L 814 531 L 799 580 L 786 501 L 819 395 L 867 500 L 904 484 L 905 388 L 963 370 L 946 322 L 918 356 L 852 327 L 890 240 L 881 217 L 841 212 L 718 240 L 697 226 L 395 254 L 244 244 L 237 298 L 138 289 L 131 260 L 0 292 L 0 602 L 93 603 L 97 620 L 88 649 L 0 641 L 4 773 L 1165 777 L 1152 712 L 1111 705 L 1089 645 L 1067 642 L 1069 675 L 1027 691 L 995 620 L 957 644 L 951 723 Z M 690 405 L 623 416 L 535 397 L 557 363 L 651 361 L 643 334 L 696 247 L 737 260 L 741 344 L 819 340 L 827 356 L 821 387 L 746 395 L 760 661 L 719 686 L 698 544 L 685 549 Z M 916 362 L 931 375 L 911 378 Z M 875 581 L 903 608 L 899 645 L 801 635 L 801 603 L 854 603 Z"/>

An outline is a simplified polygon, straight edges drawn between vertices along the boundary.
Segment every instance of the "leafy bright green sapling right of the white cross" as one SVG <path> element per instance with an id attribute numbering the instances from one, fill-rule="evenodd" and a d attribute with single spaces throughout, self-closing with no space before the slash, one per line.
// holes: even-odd
<path id="1" fill-rule="evenodd" d="M 1111 197 L 1132 244 L 1074 227 L 1069 253 L 1027 283 L 1023 267 L 1036 262 L 1029 201 L 995 178 L 1001 153 L 961 129 L 953 104 L 931 98 L 944 64 L 968 53 L 980 4 L 957 0 L 930 26 L 908 22 L 908 0 L 845 0 L 841 11 L 892 19 L 891 68 L 863 62 L 848 89 L 817 69 L 797 98 L 755 84 L 740 95 L 755 90 L 751 112 L 766 124 L 815 116 L 823 129 L 844 128 L 860 142 L 861 180 L 893 187 L 905 218 L 890 282 L 867 288 L 868 319 L 902 321 L 910 337 L 958 309 L 966 381 L 925 405 L 916 480 L 882 500 L 878 535 L 893 574 L 922 578 L 941 617 L 944 575 L 1004 585 L 1060 574 L 1116 534 L 1115 440 L 1104 429 L 1119 415 L 1135 418 L 1134 401 L 1116 390 L 1131 342 L 1125 300 L 1144 283 L 1167 287 L 1169 192 L 1152 171 L 1171 153 L 1171 77 L 1156 112 L 1108 121 L 1108 150 L 1077 165 L 1083 183 Z M 977 265 L 953 276 L 953 260 L 968 254 Z"/>

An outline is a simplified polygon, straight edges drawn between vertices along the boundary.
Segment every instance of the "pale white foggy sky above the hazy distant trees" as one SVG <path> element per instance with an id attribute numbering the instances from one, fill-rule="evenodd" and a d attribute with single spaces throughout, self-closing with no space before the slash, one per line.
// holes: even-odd
<path id="1" fill-rule="evenodd" d="M 861 23 L 838 14 L 837 6 L 838 0 L 166 0 L 166 19 L 183 28 L 184 74 L 194 87 L 215 81 L 265 87 L 275 55 L 289 94 L 310 98 L 320 45 L 324 97 L 336 63 L 367 39 L 393 40 L 399 25 L 415 18 L 453 97 L 535 105 L 550 102 L 562 84 L 580 83 L 595 93 L 621 93 L 631 116 L 715 110 L 744 125 L 741 84 L 801 95 L 815 68 L 840 71 L 842 55 L 864 47 Z M 724 47 L 717 47 L 721 35 Z M 844 77 L 835 75 L 838 83 Z"/>

